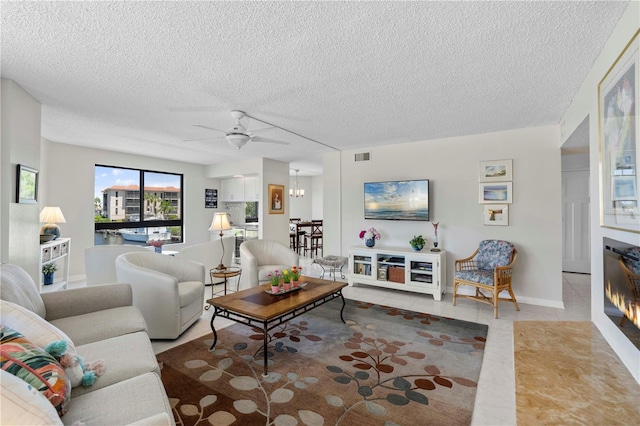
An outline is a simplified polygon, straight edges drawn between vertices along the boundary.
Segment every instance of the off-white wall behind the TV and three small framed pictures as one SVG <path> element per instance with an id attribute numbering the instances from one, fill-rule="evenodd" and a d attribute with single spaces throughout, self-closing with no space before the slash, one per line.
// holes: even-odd
<path id="1" fill-rule="evenodd" d="M 359 150 L 361 151 L 361 150 Z M 341 161 L 326 159 L 324 195 L 340 192 L 335 206 L 325 198 L 327 241 L 339 240 L 340 254 L 362 246 L 360 230 L 375 227 L 376 247 L 409 247 L 414 234 L 433 242 L 429 222 L 364 220 L 363 184 L 371 181 L 429 179 L 430 218 L 439 222 L 438 239 L 447 253 L 447 286 L 453 286 L 454 259 L 469 256 L 482 239 L 513 242 L 519 257 L 514 291 L 519 301 L 563 307 L 560 149 L 557 126 L 395 144 L 370 149 L 372 160 L 354 162 L 356 151 Z M 483 160 L 513 159 L 513 204 L 509 226 L 484 226 L 478 202 L 478 166 Z M 340 173 L 327 167 L 340 167 Z M 337 180 L 334 176 L 340 175 Z M 341 231 L 332 219 L 340 216 Z M 338 254 L 331 244 L 325 254 Z M 331 251 L 329 251 L 331 250 Z M 526 309 L 526 306 L 524 307 Z"/>

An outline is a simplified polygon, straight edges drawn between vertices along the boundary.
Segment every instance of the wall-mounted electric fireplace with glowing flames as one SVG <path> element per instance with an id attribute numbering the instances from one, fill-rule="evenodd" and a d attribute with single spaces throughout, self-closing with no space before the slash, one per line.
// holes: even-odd
<path id="1" fill-rule="evenodd" d="M 636 246 L 603 238 L 604 249 L 604 313 L 624 333 L 625 336 L 640 349 L 640 286 L 627 275 L 620 265 L 622 259 L 625 264 L 632 261 L 640 262 L 638 253 L 640 248 L 631 251 Z M 633 272 L 633 271 L 632 271 Z M 636 271 L 637 272 L 637 271 Z"/>

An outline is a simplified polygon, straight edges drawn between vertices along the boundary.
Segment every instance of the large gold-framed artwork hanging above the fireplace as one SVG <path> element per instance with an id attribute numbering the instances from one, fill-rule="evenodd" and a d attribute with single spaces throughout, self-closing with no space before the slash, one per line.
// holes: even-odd
<path id="1" fill-rule="evenodd" d="M 598 84 L 600 226 L 640 233 L 638 131 L 640 60 L 636 31 Z"/>

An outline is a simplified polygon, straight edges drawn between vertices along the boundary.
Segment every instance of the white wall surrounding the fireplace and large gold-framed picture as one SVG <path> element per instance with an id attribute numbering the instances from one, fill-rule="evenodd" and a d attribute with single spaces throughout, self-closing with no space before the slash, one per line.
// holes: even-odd
<path id="1" fill-rule="evenodd" d="M 629 2 L 624 15 L 612 32 L 605 47 L 594 62 L 587 78 L 582 82 L 570 107 L 562 119 L 561 143 L 589 116 L 589 148 L 591 174 L 591 320 L 607 339 L 636 381 L 640 383 L 640 350 L 636 348 L 605 314 L 603 292 L 602 239 L 613 238 L 640 245 L 640 234 L 600 226 L 600 148 L 598 120 L 598 84 L 624 47 L 640 27 L 640 2 Z M 640 35 L 638 35 L 640 37 Z M 637 82 L 636 82 L 637 84 Z M 636 88 L 637 90 L 637 88 Z M 637 108 L 637 107 L 636 107 Z M 637 109 L 636 109 L 637 111 Z M 636 112 L 637 113 L 637 112 Z M 637 136 L 636 136 L 637 137 Z M 636 147 L 640 149 L 640 147 Z"/>

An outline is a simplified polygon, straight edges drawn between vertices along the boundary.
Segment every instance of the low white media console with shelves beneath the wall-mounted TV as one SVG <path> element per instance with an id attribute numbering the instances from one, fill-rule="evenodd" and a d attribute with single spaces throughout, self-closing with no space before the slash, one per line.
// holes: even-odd
<path id="1" fill-rule="evenodd" d="M 439 301 L 446 288 L 446 259 L 445 251 L 351 247 L 349 285 L 367 284 L 431 294 Z"/>

